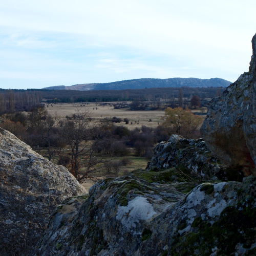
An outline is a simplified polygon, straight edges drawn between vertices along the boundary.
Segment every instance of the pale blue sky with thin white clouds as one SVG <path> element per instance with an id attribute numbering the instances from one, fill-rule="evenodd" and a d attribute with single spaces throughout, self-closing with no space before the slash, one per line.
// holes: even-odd
<path id="1" fill-rule="evenodd" d="M 247 72 L 255 0 L 0 0 L 0 88 Z"/>

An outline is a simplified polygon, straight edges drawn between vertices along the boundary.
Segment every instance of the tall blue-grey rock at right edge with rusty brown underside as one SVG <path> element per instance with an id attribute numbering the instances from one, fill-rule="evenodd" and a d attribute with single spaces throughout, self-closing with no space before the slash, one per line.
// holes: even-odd
<path id="1" fill-rule="evenodd" d="M 230 167 L 256 175 L 256 35 L 248 73 L 241 75 L 208 105 L 201 134 L 209 150 Z"/>

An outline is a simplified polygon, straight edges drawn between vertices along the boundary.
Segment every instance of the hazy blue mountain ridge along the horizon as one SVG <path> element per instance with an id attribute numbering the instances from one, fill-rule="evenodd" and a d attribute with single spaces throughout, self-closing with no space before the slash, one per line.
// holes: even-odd
<path id="1" fill-rule="evenodd" d="M 83 83 L 73 86 L 52 86 L 43 89 L 47 90 L 125 90 L 161 87 L 228 87 L 231 82 L 221 78 L 199 79 L 199 78 L 141 78 L 123 80 L 108 83 Z"/>

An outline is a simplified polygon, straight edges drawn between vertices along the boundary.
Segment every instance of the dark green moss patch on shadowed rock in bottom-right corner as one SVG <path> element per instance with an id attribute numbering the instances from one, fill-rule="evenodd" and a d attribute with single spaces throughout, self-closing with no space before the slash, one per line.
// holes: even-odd
<path id="1" fill-rule="evenodd" d="M 207 191 L 207 189 L 205 190 Z M 208 190 L 209 191 L 209 190 Z M 251 248 L 255 243 L 256 210 L 254 198 L 245 199 L 235 206 L 226 207 L 214 224 L 203 221 L 200 217 L 192 223 L 194 232 L 185 236 L 174 237 L 171 255 L 210 255 L 212 248 L 217 255 L 232 255 L 238 243 L 244 248 Z M 179 229 L 183 228 L 179 227 Z M 246 251 L 253 255 L 255 248 Z"/>

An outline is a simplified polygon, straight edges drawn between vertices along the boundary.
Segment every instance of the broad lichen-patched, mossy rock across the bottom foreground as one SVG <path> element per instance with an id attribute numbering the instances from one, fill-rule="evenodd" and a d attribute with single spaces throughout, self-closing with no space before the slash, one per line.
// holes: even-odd
<path id="1" fill-rule="evenodd" d="M 62 202 L 34 255 L 245 255 L 256 253 L 256 178 L 189 194 L 125 176 Z"/>

